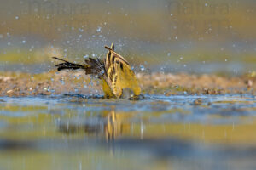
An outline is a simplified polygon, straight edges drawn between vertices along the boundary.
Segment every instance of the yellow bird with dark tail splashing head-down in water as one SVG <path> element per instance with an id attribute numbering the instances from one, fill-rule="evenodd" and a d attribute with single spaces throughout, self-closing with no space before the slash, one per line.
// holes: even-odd
<path id="1" fill-rule="evenodd" d="M 82 69 L 86 75 L 98 77 L 102 81 L 104 98 L 138 99 L 141 95 L 141 88 L 137 77 L 132 71 L 128 61 L 114 51 L 114 45 L 105 46 L 108 49 L 106 59 L 88 58 L 84 65 L 69 62 L 65 59 L 53 57 L 62 61 L 55 65 L 58 71 Z"/>

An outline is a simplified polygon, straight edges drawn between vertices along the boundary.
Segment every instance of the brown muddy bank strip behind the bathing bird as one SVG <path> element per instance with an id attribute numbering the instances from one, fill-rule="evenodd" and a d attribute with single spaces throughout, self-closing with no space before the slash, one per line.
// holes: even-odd
<path id="1" fill-rule="evenodd" d="M 138 73 L 144 94 L 255 94 L 256 77 L 223 77 L 172 73 Z M 50 94 L 103 94 L 101 82 L 83 71 L 50 71 L 41 74 L 0 73 L 0 96 Z"/>

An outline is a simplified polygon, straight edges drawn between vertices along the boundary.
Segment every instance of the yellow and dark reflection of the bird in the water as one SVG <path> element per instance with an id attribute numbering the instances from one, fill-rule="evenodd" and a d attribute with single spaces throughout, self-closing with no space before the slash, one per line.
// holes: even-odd
<path id="1" fill-rule="evenodd" d="M 104 137 L 107 141 L 116 139 L 122 135 L 125 117 L 123 114 L 116 114 L 115 111 L 99 117 L 90 117 L 86 122 L 65 122 L 60 123 L 59 130 L 61 133 L 79 134 L 85 133 L 87 136 Z"/>

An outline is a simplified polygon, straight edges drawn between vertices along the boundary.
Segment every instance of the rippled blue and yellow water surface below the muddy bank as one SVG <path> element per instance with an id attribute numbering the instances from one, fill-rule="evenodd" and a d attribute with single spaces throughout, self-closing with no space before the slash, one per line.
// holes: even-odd
<path id="1" fill-rule="evenodd" d="M 0 169 L 254 169 L 254 96 L 0 98 Z"/>

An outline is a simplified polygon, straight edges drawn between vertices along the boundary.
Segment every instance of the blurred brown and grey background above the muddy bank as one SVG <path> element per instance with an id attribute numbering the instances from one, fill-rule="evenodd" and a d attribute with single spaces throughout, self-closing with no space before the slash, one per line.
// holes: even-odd
<path id="1" fill-rule="evenodd" d="M 256 63 L 252 0 L 9 0 L 0 6 L 0 69 L 53 69 L 51 57 L 105 57 L 135 70 L 241 75 Z"/>

